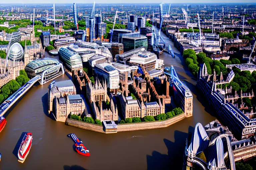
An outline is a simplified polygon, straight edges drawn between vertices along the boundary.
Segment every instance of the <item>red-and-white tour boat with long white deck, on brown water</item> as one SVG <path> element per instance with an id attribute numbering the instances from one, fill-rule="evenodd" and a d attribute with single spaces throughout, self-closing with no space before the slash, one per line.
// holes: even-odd
<path id="1" fill-rule="evenodd" d="M 23 163 L 28 156 L 29 150 L 32 145 L 32 133 L 26 133 L 22 139 L 22 142 L 20 144 L 20 148 L 18 151 L 18 161 Z"/>

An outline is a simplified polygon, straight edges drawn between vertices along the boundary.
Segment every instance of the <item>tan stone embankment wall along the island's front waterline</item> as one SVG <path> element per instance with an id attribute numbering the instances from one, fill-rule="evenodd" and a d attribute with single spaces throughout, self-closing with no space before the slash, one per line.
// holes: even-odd
<path id="1" fill-rule="evenodd" d="M 117 132 L 121 131 L 133 131 L 133 130 L 145 130 L 145 129 L 154 129 L 154 128 L 165 128 L 176 122 L 179 122 L 185 118 L 185 114 L 180 114 L 173 118 L 164 120 L 164 121 L 154 121 L 154 122 L 140 122 L 140 123 L 131 123 L 131 124 L 118 124 Z M 92 130 L 96 132 L 106 133 L 103 131 L 103 127 L 101 125 L 81 122 L 73 119 L 66 119 L 66 125 L 82 128 L 86 130 Z"/>

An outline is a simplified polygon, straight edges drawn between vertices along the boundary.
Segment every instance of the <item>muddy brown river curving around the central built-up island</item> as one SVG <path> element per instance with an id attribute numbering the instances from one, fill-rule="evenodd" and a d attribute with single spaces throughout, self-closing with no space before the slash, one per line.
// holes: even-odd
<path id="1" fill-rule="evenodd" d="M 161 33 L 163 34 L 163 33 Z M 164 52 L 160 59 L 173 65 L 193 94 L 193 116 L 167 128 L 103 134 L 65 125 L 48 117 L 47 91 L 50 82 L 33 87 L 6 117 L 0 133 L 0 169 L 182 169 L 185 141 L 189 131 L 200 122 L 203 126 L 215 120 L 214 113 L 196 88 L 180 52 L 163 35 L 166 45 L 172 45 L 176 55 Z M 48 53 L 46 53 L 48 55 Z M 46 56 L 47 57 L 47 56 Z M 48 56 L 50 57 L 50 56 Z M 55 81 L 69 79 L 66 74 Z M 206 107 L 206 108 L 205 108 Z M 17 161 L 13 150 L 22 132 L 32 132 L 33 145 L 25 162 Z M 75 133 L 90 150 L 85 157 L 73 149 L 67 134 Z"/>

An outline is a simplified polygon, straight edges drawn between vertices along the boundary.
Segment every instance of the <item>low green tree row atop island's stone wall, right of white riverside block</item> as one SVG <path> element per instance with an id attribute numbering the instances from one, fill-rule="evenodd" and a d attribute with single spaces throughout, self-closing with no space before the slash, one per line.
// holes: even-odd
<path id="1" fill-rule="evenodd" d="M 121 120 L 120 124 L 129 124 L 129 123 L 139 123 L 139 122 L 152 122 L 152 121 L 163 121 L 174 116 L 183 114 L 181 108 L 174 108 L 172 111 L 167 113 L 162 113 L 157 116 L 145 116 L 143 118 L 134 117 L 134 118 L 126 118 L 125 120 Z"/>

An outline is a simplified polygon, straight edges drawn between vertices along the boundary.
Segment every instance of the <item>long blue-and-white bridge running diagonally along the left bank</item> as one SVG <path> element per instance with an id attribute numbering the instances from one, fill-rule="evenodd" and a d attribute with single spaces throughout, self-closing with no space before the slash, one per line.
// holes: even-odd
<path id="1" fill-rule="evenodd" d="M 15 93 L 13 93 L 10 97 L 8 97 L 1 105 L 0 105 L 0 116 L 4 116 L 5 113 L 18 101 L 33 85 L 41 80 L 41 76 L 37 75 L 30 79 L 27 83 L 25 83 L 22 87 L 20 87 Z"/>

